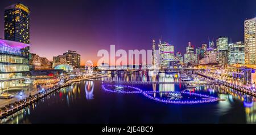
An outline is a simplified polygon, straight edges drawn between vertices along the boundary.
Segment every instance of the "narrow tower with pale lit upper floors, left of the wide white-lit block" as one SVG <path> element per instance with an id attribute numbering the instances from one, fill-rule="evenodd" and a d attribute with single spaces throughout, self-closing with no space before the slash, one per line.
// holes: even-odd
<path id="1" fill-rule="evenodd" d="M 218 65 L 222 67 L 228 64 L 228 43 L 228 37 L 218 37 L 216 40 Z"/>

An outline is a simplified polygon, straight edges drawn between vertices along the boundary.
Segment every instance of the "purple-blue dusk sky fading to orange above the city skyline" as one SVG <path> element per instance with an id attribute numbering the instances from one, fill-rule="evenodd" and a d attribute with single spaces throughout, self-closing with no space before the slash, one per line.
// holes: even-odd
<path id="1" fill-rule="evenodd" d="M 18 1 L 0 1 L 0 38 L 4 38 L 4 8 Z M 97 51 L 151 49 L 162 37 L 185 53 L 188 41 L 196 47 L 218 36 L 243 41 L 243 21 L 256 17 L 255 0 L 91 0 L 20 1 L 31 11 L 31 53 L 52 60 L 75 50 L 97 62 Z"/>

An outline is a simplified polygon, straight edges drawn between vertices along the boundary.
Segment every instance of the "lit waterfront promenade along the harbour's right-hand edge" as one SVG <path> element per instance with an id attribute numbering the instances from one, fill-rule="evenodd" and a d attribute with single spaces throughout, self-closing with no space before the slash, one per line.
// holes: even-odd
<path id="1" fill-rule="evenodd" d="M 230 84 L 229 82 L 216 79 L 212 76 L 205 75 L 204 73 L 196 72 L 196 74 L 200 75 L 200 76 L 203 76 L 207 79 L 213 80 L 214 82 L 216 82 L 218 84 L 228 86 L 229 88 L 232 88 L 232 89 L 235 89 L 235 90 L 238 90 L 240 92 L 243 92 L 243 93 L 246 93 L 246 94 L 249 94 L 249 95 L 253 95 L 254 97 L 256 97 L 256 93 L 254 93 L 253 90 L 251 90 L 249 88 L 246 88 L 245 86 L 238 86 L 238 85 L 235 85 L 235 84 Z"/>

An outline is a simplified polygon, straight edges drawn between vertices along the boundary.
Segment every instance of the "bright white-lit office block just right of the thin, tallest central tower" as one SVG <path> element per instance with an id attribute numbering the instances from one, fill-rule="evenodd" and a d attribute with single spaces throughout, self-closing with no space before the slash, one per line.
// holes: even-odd
<path id="1" fill-rule="evenodd" d="M 169 43 L 159 45 L 159 64 L 161 68 L 168 68 L 170 62 L 174 60 L 174 46 Z"/>

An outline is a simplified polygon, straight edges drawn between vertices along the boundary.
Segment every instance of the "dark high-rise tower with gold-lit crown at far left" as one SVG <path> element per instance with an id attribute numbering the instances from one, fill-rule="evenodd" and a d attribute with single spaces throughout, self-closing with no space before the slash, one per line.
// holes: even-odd
<path id="1" fill-rule="evenodd" d="M 30 43 L 30 9 L 22 3 L 5 8 L 5 40 Z M 27 58 L 30 48 L 22 49 Z"/>

